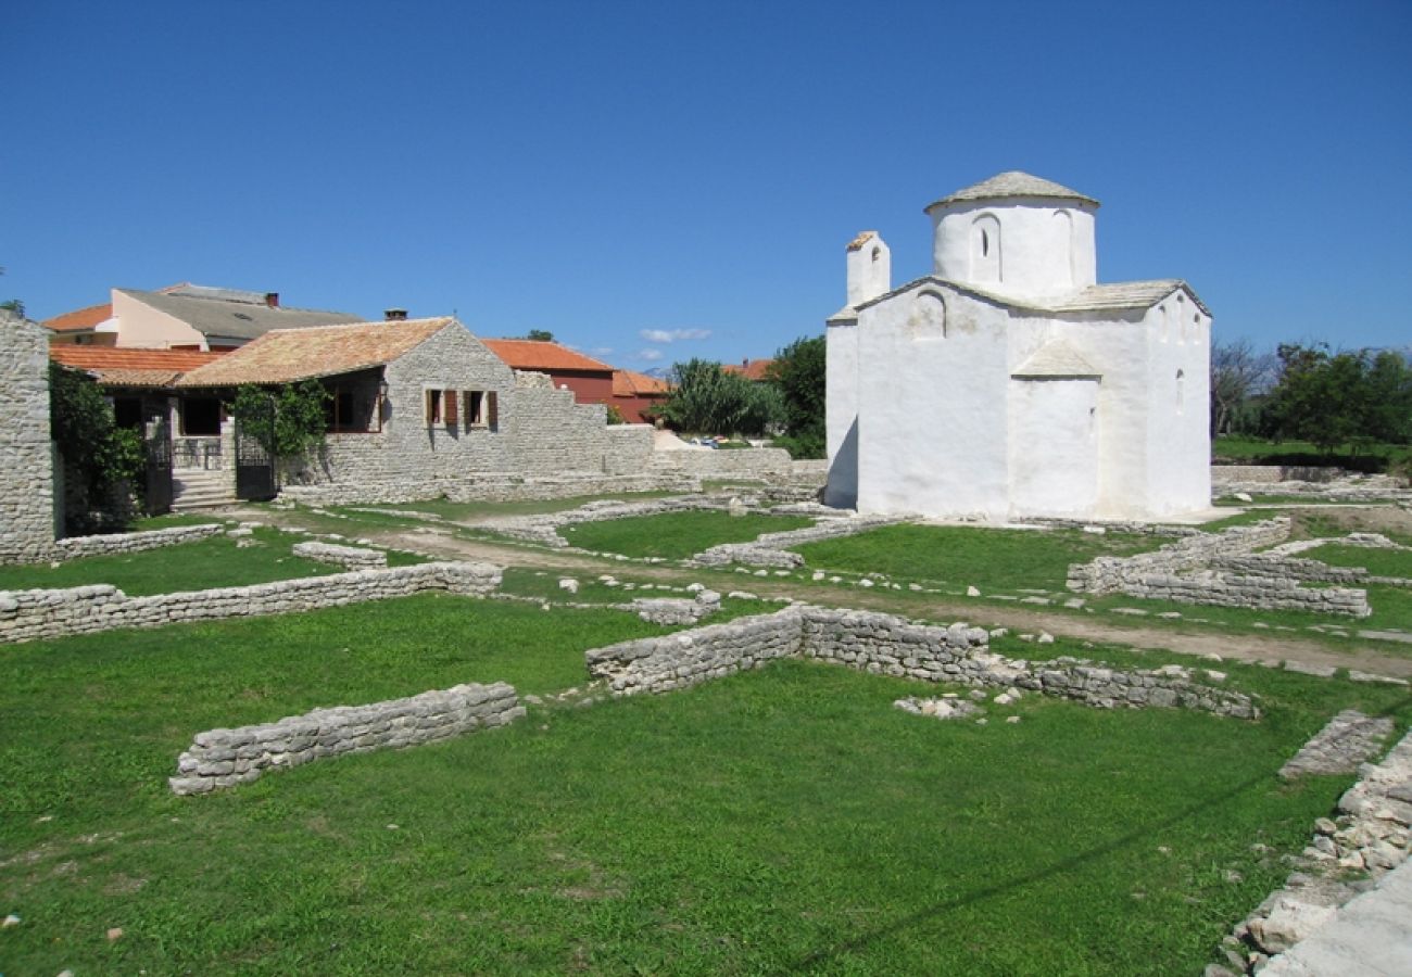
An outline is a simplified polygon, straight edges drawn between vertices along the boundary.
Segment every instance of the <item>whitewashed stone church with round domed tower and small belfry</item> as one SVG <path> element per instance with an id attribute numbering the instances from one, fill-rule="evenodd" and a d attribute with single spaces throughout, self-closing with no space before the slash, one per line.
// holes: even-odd
<path id="1" fill-rule="evenodd" d="M 1097 284 L 1099 202 L 1004 172 L 943 196 L 932 274 L 874 232 L 827 320 L 830 505 L 1004 521 L 1210 505 L 1211 313 L 1179 280 Z"/>

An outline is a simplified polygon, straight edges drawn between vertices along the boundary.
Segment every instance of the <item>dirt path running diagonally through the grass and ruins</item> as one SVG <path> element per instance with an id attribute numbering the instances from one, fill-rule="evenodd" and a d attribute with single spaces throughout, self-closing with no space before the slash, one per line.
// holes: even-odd
<path id="1" fill-rule="evenodd" d="M 237 514 L 243 518 L 278 521 L 292 527 L 301 525 L 298 513 L 244 510 Z M 587 553 L 538 549 L 511 542 L 500 544 L 486 539 L 465 539 L 436 527 L 367 529 L 363 535 L 385 546 L 446 559 L 476 559 L 496 563 L 497 566 L 542 569 L 565 575 L 592 573 L 597 576 L 602 573 L 618 573 L 676 583 L 688 583 L 693 579 L 710 579 L 716 580 L 717 587 L 727 586 L 720 583 L 719 570 L 690 570 L 661 563 L 623 562 L 590 556 Z M 1166 649 L 1183 655 L 1214 654 L 1221 658 L 1240 661 L 1292 661 L 1303 665 L 1350 668 L 1372 675 L 1412 679 L 1412 658 L 1382 655 L 1365 647 L 1339 651 L 1319 641 L 1291 637 L 1288 634 L 1271 634 L 1267 637 L 1248 633 L 1182 633 L 1022 607 L 997 607 L 995 604 L 947 600 L 921 601 L 915 597 L 899 600 L 898 597 L 902 594 L 891 592 L 832 587 L 826 585 L 801 587 L 798 582 L 755 576 L 737 579 L 738 586 L 736 589 L 748 590 L 765 597 L 798 597 L 810 603 L 834 607 L 882 610 L 914 617 L 925 614 L 936 620 L 963 620 L 984 627 L 1005 627 L 1017 633 L 1048 631 L 1056 637 L 1128 645 L 1132 648 Z"/>

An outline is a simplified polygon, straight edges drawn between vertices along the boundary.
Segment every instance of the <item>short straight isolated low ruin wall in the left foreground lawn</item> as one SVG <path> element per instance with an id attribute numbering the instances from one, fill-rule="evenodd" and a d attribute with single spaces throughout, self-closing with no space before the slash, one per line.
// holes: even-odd
<path id="1" fill-rule="evenodd" d="M 367 706 L 315 709 L 275 723 L 198 733 L 176 758 L 174 793 L 209 793 L 250 784 L 265 771 L 311 760 L 398 750 L 505 726 L 525 714 L 513 686 L 457 685 Z"/>

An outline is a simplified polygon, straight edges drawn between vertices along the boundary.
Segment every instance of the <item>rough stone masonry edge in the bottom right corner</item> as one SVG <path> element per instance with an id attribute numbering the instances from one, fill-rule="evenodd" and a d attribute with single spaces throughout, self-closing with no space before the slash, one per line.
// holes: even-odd
<path id="1" fill-rule="evenodd" d="M 1361 729 L 1361 733 L 1350 737 L 1351 729 Z M 1363 741 L 1364 745 L 1358 747 L 1363 751 L 1378 729 L 1382 727 L 1370 726 L 1357 713 L 1340 713 L 1300 750 L 1300 755 L 1327 754 L 1329 744 L 1354 740 Z M 1350 751 L 1346 760 L 1351 758 Z M 1241 970 L 1310 973 L 1292 966 L 1292 961 L 1285 966 L 1274 954 L 1282 954 L 1317 933 L 1337 918 L 1340 906 L 1375 888 L 1380 880 L 1406 861 L 1412 830 L 1412 733 L 1382 762 L 1364 764 L 1358 769 L 1358 782 L 1339 799 L 1337 816 L 1316 822 L 1313 840 L 1296 860 L 1285 887 L 1271 894 L 1236 928 L 1241 952 L 1230 956 Z M 1306 772 L 1327 771 L 1329 765 L 1310 764 Z"/>

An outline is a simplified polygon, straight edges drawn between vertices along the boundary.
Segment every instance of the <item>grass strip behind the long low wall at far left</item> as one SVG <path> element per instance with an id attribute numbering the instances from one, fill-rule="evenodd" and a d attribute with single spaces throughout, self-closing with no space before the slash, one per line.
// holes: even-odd
<path id="1" fill-rule="evenodd" d="M 343 572 L 342 566 L 333 563 L 295 556 L 292 546 L 299 542 L 297 535 L 260 528 L 250 539 L 254 539 L 256 545 L 239 546 L 236 539 L 216 535 L 138 553 L 88 556 L 56 566 L 48 563 L 0 566 L 0 590 L 112 583 L 130 597 L 138 597 L 172 590 L 239 587 Z M 411 553 L 388 553 L 388 563 L 393 566 L 415 562 L 421 562 L 421 558 Z"/>

